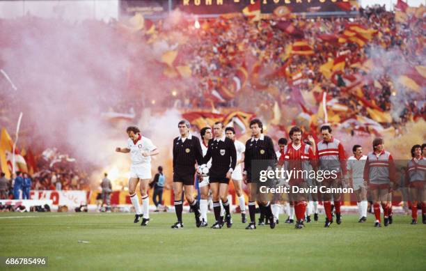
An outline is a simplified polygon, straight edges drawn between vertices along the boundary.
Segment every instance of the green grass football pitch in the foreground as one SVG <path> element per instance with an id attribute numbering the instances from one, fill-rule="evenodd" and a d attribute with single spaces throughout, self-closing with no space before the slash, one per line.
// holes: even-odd
<path id="1" fill-rule="evenodd" d="M 425 270 L 426 225 L 395 215 L 388 227 L 319 222 L 301 230 L 245 230 L 239 214 L 231 229 L 171 229 L 173 213 L 153 213 L 148 227 L 122 213 L 0 213 L 0 256 L 47 256 L 54 270 Z M 282 216 L 281 218 L 285 218 Z M 421 218 L 421 215 L 420 215 Z M 213 216 L 209 215 L 210 222 Z M 211 223 L 210 223 L 211 224 Z M 4 268 L 1 268 L 4 270 Z M 45 269 L 45 268 L 40 268 Z"/>

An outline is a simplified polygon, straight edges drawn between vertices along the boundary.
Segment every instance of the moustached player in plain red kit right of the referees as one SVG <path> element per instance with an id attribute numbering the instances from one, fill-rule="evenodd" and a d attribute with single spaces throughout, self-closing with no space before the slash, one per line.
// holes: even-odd
<path id="1" fill-rule="evenodd" d="M 294 200 L 294 212 L 296 212 L 296 229 L 303 228 L 303 219 L 305 219 L 306 212 L 306 193 L 294 192 L 295 188 L 307 188 L 308 184 L 308 169 L 309 164 L 315 168 L 315 155 L 312 148 L 308 144 L 301 141 L 301 129 L 299 127 L 292 127 L 289 132 L 290 144 L 284 148 L 284 167 L 287 172 L 293 171 L 289 176 L 290 194 Z"/>

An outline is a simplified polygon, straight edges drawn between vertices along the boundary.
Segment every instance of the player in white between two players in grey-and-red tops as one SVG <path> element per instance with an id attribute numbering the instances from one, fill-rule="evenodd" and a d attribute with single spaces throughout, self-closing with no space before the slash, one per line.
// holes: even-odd
<path id="1" fill-rule="evenodd" d="M 358 205 L 359 223 L 367 220 L 367 185 L 364 181 L 364 167 L 367 155 L 363 155 L 363 147 L 354 145 L 352 147 L 354 155 L 347 160 L 347 170 L 349 174 L 349 186 L 354 188 L 356 194 L 356 205 Z"/>

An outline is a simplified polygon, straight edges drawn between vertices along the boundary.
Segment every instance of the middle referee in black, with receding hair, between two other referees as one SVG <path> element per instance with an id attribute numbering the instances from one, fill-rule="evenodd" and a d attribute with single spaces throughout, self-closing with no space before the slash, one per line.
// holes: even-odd
<path id="1" fill-rule="evenodd" d="M 232 139 L 223 133 L 223 123 L 216 122 L 213 125 L 214 138 L 210 139 L 207 153 L 204 157 L 205 164 L 212 158 L 212 167 L 209 172 L 210 189 L 213 197 L 213 210 L 216 222 L 212 229 L 221 229 L 223 221 L 221 219 L 221 203 L 226 211 L 226 226 L 232 226 L 228 202 L 228 184 L 232 171 L 237 164 L 237 150 Z"/>

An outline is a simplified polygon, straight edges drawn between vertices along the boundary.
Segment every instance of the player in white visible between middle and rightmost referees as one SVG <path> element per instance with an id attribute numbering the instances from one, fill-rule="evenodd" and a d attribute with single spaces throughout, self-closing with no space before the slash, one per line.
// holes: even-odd
<path id="1" fill-rule="evenodd" d="M 241 164 L 244 162 L 244 152 L 246 151 L 246 146 L 241 142 L 235 139 L 235 130 L 233 127 L 225 128 L 226 137 L 232 139 L 235 144 L 235 149 L 237 150 L 237 165 L 235 170 L 232 171 L 232 183 L 234 183 L 235 195 L 238 197 L 239 208 L 241 209 L 241 222 L 246 223 L 246 203 L 244 199 L 244 193 L 242 191 L 242 169 Z"/>

